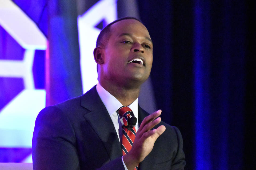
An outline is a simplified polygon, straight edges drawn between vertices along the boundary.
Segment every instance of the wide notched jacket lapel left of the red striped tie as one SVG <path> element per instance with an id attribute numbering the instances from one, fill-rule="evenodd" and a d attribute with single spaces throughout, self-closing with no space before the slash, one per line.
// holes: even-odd
<path id="1" fill-rule="evenodd" d="M 84 117 L 98 134 L 106 148 L 110 160 L 122 156 L 122 150 L 115 127 L 106 107 L 97 93 L 96 86 L 81 96 L 81 106 L 88 110 L 88 113 L 86 113 Z"/>

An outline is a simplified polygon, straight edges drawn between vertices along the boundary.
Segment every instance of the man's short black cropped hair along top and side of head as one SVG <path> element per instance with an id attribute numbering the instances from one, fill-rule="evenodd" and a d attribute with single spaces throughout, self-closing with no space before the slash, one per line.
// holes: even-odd
<path id="1" fill-rule="evenodd" d="M 117 19 L 117 20 L 115 20 L 115 21 L 109 23 L 109 24 L 108 24 L 106 27 L 104 27 L 104 28 L 101 30 L 101 32 L 99 33 L 98 38 L 97 38 L 97 41 L 96 41 L 96 47 L 98 47 L 98 46 L 103 46 L 103 47 L 105 47 L 105 44 L 106 44 L 107 42 L 103 42 L 103 41 L 104 41 L 104 40 L 108 40 L 109 37 L 110 37 L 110 26 L 113 25 L 113 24 L 116 23 L 116 22 L 119 22 L 119 21 L 122 21 L 122 20 L 125 20 L 125 19 L 135 19 L 135 20 L 139 21 L 140 23 L 142 23 L 141 20 L 139 20 L 138 18 L 131 17 L 131 16 L 119 18 L 119 19 Z M 142 23 L 142 24 L 143 24 L 143 23 Z M 105 38 L 103 39 L 103 37 L 105 37 Z"/>

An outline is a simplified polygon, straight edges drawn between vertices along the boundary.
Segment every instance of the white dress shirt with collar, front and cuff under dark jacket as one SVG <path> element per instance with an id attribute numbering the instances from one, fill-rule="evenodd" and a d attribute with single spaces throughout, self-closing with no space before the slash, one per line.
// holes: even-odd
<path id="1" fill-rule="evenodd" d="M 115 126 L 115 130 L 117 132 L 118 139 L 120 142 L 120 136 L 122 136 L 123 119 L 122 117 L 119 116 L 119 114 L 116 111 L 123 105 L 113 95 L 111 95 L 108 91 L 106 91 L 99 83 L 96 85 L 96 90 L 99 94 L 99 97 L 101 98 L 101 101 L 107 108 L 107 112 L 109 112 L 109 116 Z M 135 129 L 136 131 L 138 131 L 138 98 L 127 107 L 129 107 L 133 111 L 134 116 L 137 118 Z M 122 162 L 123 162 L 123 157 L 122 157 Z M 123 162 L 123 166 L 125 167 L 125 170 L 128 170 L 124 162 Z"/>

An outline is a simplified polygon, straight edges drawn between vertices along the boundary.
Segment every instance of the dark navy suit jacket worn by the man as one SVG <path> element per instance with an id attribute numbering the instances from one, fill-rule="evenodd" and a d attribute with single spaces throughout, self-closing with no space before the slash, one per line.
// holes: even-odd
<path id="1" fill-rule="evenodd" d="M 138 121 L 148 115 L 138 108 Z M 183 169 L 185 155 L 179 130 L 166 131 L 139 169 Z M 158 125 L 159 126 L 159 125 Z M 37 116 L 32 141 L 33 168 L 124 169 L 117 133 L 94 86 L 84 95 L 44 108 Z"/>

